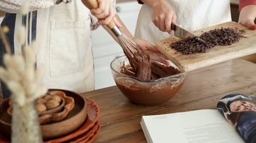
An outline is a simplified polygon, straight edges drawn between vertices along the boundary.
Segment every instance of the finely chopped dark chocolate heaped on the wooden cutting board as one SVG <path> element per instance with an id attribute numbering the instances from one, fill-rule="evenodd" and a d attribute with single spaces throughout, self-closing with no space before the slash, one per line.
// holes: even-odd
<path id="1" fill-rule="evenodd" d="M 232 43 L 239 41 L 243 33 L 244 31 L 237 32 L 232 28 L 215 29 L 205 32 L 200 36 L 206 44 L 199 42 L 196 37 L 188 37 L 181 41 L 172 43 L 170 47 L 183 54 L 206 52 L 209 48 L 218 45 L 231 45 Z"/>

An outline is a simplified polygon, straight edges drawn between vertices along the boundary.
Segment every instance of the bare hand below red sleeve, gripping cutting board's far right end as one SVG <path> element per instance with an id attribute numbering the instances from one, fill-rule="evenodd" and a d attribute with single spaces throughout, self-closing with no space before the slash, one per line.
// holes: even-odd
<path id="1" fill-rule="evenodd" d="M 241 9 L 238 23 L 248 27 L 251 30 L 256 30 L 254 20 L 256 18 L 256 5 L 248 5 Z"/>

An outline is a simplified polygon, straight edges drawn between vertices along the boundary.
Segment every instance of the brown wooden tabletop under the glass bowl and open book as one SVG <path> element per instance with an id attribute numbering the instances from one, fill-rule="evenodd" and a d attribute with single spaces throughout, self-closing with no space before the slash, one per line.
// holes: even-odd
<path id="1" fill-rule="evenodd" d="M 101 130 L 94 142 L 146 142 L 140 126 L 142 115 L 216 109 L 217 102 L 231 93 L 256 97 L 255 71 L 256 64 L 244 60 L 191 71 L 178 94 L 159 106 L 133 104 L 116 86 L 83 93 L 100 107 Z"/>

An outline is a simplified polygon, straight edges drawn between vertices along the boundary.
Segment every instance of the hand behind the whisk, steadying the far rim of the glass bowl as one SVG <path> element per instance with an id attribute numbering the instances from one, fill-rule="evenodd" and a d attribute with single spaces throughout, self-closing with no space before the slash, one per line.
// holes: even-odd
<path id="1" fill-rule="evenodd" d="M 170 65 L 168 58 L 150 42 L 138 38 L 134 38 L 134 42 L 150 55 L 151 62 L 159 62 L 167 66 Z"/>

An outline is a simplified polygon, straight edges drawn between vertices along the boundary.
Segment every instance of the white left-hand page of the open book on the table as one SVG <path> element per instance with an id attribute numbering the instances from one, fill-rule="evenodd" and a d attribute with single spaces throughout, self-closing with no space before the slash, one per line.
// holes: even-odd
<path id="1" fill-rule="evenodd" d="M 218 110 L 204 109 L 142 116 L 141 125 L 145 126 L 143 132 L 147 132 L 147 142 L 244 143 Z"/>

